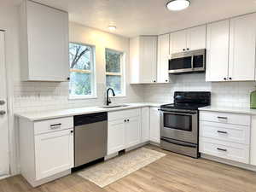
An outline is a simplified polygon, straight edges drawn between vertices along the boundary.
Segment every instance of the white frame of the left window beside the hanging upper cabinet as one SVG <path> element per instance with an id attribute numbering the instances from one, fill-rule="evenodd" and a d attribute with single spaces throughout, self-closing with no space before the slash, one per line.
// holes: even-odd
<path id="1" fill-rule="evenodd" d="M 69 94 L 69 84 L 68 84 L 68 99 L 69 100 L 83 100 L 83 99 L 93 99 L 97 98 L 97 92 L 96 92 L 96 46 L 94 44 L 85 44 L 80 42 L 72 42 L 70 41 L 68 44 L 79 44 L 82 46 L 88 46 L 92 51 L 90 51 L 90 58 L 91 63 L 90 70 L 84 70 L 84 69 L 71 69 L 69 66 L 69 74 L 73 72 L 79 72 L 79 73 L 90 73 L 90 87 L 91 87 L 91 94 L 90 95 L 84 95 L 84 96 L 73 96 Z M 69 49 L 68 49 L 68 55 L 69 55 Z"/>

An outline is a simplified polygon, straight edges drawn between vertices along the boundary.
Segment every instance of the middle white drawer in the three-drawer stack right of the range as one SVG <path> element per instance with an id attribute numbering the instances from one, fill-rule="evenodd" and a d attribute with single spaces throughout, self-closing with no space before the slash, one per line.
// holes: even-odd
<path id="1" fill-rule="evenodd" d="M 249 144 L 249 126 L 200 121 L 200 137 L 210 137 L 224 142 Z"/>

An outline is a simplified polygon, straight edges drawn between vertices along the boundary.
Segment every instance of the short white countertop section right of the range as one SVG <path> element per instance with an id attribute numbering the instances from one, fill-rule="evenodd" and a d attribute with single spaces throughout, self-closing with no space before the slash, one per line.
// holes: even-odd
<path id="1" fill-rule="evenodd" d="M 230 108 L 230 107 L 219 107 L 219 106 L 207 106 L 199 108 L 200 111 L 213 111 L 213 112 L 224 112 L 224 113 L 245 113 L 245 114 L 256 114 L 256 109 L 252 108 Z"/>

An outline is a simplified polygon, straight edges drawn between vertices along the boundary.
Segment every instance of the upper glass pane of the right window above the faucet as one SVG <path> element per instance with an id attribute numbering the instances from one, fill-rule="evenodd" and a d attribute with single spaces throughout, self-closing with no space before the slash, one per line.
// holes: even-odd
<path id="1" fill-rule="evenodd" d="M 122 53 L 106 49 L 106 72 L 120 73 L 120 60 Z"/>

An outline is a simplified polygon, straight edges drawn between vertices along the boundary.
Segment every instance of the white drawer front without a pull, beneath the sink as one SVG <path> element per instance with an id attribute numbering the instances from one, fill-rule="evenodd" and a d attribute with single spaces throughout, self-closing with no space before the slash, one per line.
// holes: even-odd
<path id="1" fill-rule="evenodd" d="M 141 112 L 141 108 L 108 112 L 108 120 L 111 121 L 115 119 L 126 119 L 129 117 L 137 117 L 137 116 L 140 116 L 140 112 Z"/>

